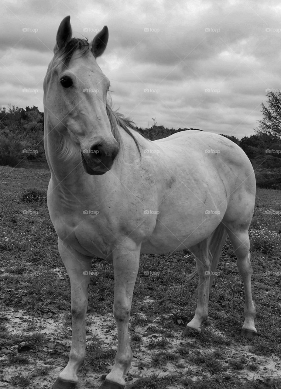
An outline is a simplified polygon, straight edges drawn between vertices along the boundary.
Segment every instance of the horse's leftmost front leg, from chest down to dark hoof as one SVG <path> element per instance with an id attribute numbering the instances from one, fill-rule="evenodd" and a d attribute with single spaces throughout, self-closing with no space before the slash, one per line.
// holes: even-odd
<path id="1" fill-rule="evenodd" d="M 72 345 L 69 361 L 59 373 L 52 389 L 72 389 L 78 382 L 77 372 L 86 353 L 86 311 L 91 258 L 80 254 L 58 239 L 59 254 L 71 284 Z"/>

